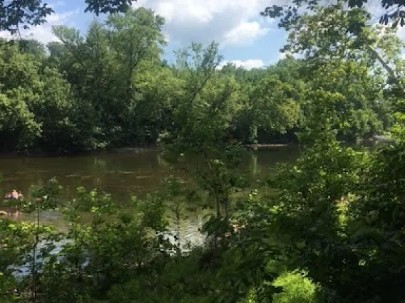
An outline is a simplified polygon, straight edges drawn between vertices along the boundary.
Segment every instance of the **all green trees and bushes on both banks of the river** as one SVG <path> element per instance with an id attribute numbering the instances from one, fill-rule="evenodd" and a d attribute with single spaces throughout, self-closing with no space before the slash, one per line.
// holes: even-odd
<path id="1" fill-rule="evenodd" d="M 292 2 L 262 13 L 288 32 L 267 68 L 221 65 L 215 42 L 168 63 L 164 18 L 114 4 L 86 33 L 54 26 L 60 42 L 0 41 L 2 152 L 198 159 L 191 185 L 170 176 L 125 208 L 93 188 L 65 201 L 56 179 L 5 196 L 34 220 L 0 216 L 0 302 L 405 302 L 403 1 L 381 1 L 398 13 L 378 24 L 363 1 Z M 389 142 L 349 144 L 376 134 Z M 291 141 L 299 159 L 260 184 L 237 170 L 244 144 Z M 205 243 L 183 245 L 185 209 L 201 205 Z"/>

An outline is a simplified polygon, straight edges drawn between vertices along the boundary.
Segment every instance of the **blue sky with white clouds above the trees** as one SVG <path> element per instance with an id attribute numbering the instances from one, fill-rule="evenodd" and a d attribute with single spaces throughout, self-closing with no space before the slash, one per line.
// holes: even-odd
<path id="1" fill-rule="evenodd" d="M 220 43 L 225 63 L 235 63 L 247 69 L 260 68 L 276 63 L 282 58 L 280 48 L 287 41 L 287 33 L 277 28 L 277 21 L 260 16 L 266 6 L 280 4 L 282 0 L 138 0 L 133 6 L 153 9 L 165 17 L 163 32 L 168 41 L 164 58 L 173 62 L 173 51 L 191 42 L 205 45 Z M 284 0 L 283 0 L 284 1 Z M 84 0 L 48 0 L 55 14 L 48 16 L 47 23 L 24 30 L 24 38 L 35 38 L 43 43 L 56 41 L 51 28 L 66 25 L 86 33 L 88 24 L 96 18 L 84 13 Z M 379 14 L 378 0 L 369 1 L 371 14 Z M 381 13 L 380 13 L 381 14 Z M 105 16 L 98 17 L 103 20 Z M 399 31 L 405 38 L 405 28 Z M 8 36 L 1 33 L 0 36 Z"/>

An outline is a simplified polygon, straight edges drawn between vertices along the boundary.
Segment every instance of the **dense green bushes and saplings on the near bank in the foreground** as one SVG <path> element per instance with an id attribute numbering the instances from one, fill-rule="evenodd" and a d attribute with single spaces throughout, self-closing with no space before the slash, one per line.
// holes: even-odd
<path id="1" fill-rule="evenodd" d="M 370 154 L 324 135 L 280 170 L 275 195 L 215 213 L 204 230 L 216 240 L 190 252 L 166 238 L 176 189 L 134 199 L 128 213 L 83 189 L 61 204 L 51 181 L 21 209 L 59 206 L 71 228 L 1 219 L 3 302 L 404 302 L 404 144 Z M 10 265 L 28 271 L 16 277 Z"/>

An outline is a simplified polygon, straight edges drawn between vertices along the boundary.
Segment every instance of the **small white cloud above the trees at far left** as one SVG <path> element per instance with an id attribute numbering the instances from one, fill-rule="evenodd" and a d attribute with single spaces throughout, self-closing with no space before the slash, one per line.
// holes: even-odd
<path id="1" fill-rule="evenodd" d="M 51 14 L 46 18 L 46 23 L 39 26 L 33 26 L 29 29 L 21 28 L 20 34 L 21 38 L 36 39 L 43 44 L 51 41 L 58 41 L 58 38 L 52 33 L 52 26 L 70 23 L 73 15 L 78 14 L 78 11 L 67 11 L 61 14 Z M 1 38 L 16 38 L 16 36 L 11 36 L 7 31 L 0 31 Z"/>

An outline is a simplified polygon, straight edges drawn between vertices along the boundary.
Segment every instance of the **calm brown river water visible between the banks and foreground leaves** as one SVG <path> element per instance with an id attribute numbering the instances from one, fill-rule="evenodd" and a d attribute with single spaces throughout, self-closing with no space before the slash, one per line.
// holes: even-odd
<path id="1" fill-rule="evenodd" d="M 266 178 L 275 164 L 294 161 L 297 155 L 298 149 L 295 146 L 247 151 L 240 170 L 252 179 Z M 41 186 L 55 177 L 63 186 L 62 194 L 66 199 L 74 198 L 76 188 L 84 186 L 88 190 L 97 188 L 98 191 L 111 193 L 117 203 L 130 201 L 131 196 L 142 198 L 146 193 L 158 190 L 163 179 L 170 174 L 175 174 L 186 182 L 190 179 L 183 170 L 168 164 L 159 151 L 150 149 L 102 152 L 86 156 L 0 157 L 0 174 L 0 195 L 3 196 L 13 189 L 29 196 L 32 186 Z M 198 228 L 205 215 L 206 212 L 199 208 L 187 214 L 181 224 L 184 240 L 199 242 Z M 19 220 L 31 219 L 24 216 Z M 60 213 L 43 213 L 41 221 L 59 228 L 64 227 Z"/>

